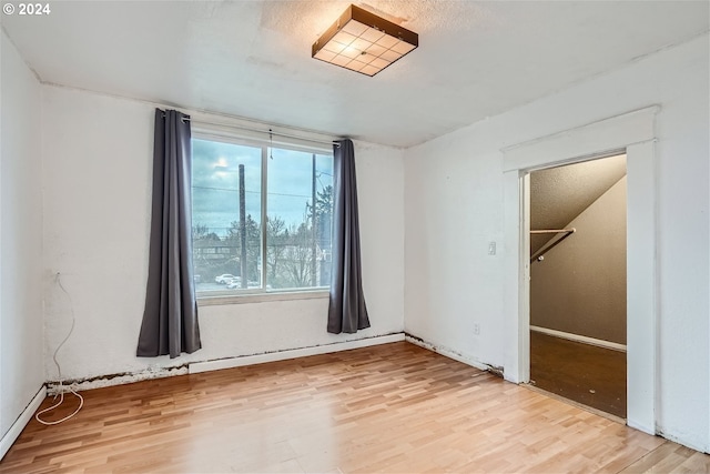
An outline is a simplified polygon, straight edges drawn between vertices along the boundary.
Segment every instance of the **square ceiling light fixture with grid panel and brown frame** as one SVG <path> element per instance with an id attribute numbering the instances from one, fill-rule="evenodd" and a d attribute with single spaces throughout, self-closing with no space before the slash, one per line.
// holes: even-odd
<path id="1" fill-rule="evenodd" d="M 311 57 L 375 75 L 419 46 L 419 36 L 351 4 L 313 43 Z"/>

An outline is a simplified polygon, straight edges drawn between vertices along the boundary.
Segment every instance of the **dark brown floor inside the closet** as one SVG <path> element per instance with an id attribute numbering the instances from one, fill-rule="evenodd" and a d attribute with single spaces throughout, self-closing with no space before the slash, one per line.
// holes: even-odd
<path id="1" fill-rule="evenodd" d="M 530 332 L 530 383 L 626 418 L 626 353 Z"/>

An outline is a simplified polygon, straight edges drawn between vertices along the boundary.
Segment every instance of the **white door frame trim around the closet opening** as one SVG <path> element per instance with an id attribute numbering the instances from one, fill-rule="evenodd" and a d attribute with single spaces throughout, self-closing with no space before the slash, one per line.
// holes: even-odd
<path id="1" fill-rule="evenodd" d="M 658 260 L 656 115 L 651 105 L 501 149 L 504 164 L 504 376 L 530 377 L 529 173 L 627 154 L 627 424 L 656 434 Z M 633 242 L 633 245 L 629 245 Z"/>

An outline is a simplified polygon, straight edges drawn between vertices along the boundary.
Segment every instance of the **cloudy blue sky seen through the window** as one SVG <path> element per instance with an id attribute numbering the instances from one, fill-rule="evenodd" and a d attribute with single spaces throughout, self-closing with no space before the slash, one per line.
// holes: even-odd
<path id="1" fill-rule="evenodd" d="M 192 221 L 224 235 L 239 221 L 239 165 L 244 164 L 246 213 L 261 219 L 261 148 L 216 141 L 192 141 Z M 270 216 L 286 225 L 304 220 L 311 201 L 313 153 L 272 149 L 267 161 Z M 333 159 L 316 154 L 316 190 L 333 183 Z"/>

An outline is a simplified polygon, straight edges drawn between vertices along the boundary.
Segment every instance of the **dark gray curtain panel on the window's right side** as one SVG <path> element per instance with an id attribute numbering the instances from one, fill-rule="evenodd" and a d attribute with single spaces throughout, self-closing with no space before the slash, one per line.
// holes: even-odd
<path id="1" fill-rule="evenodd" d="M 329 333 L 369 327 L 359 263 L 359 221 L 355 152 L 351 140 L 333 147 L 333 272 L 328 306 Z"/>

